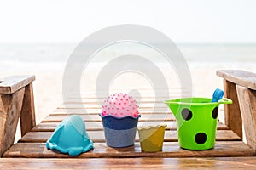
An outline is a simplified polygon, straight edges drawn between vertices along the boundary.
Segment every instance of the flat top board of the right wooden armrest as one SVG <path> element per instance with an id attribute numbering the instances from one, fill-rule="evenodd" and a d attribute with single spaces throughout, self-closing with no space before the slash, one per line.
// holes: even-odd
<path id="1" fill-rule="evenodd" d="M 256 90 L 256 74 L 241 70 L 221 70 L 217 71 L 219 77 L 223 77 L 229 82 L 234 82 L 245 88 Z"/>

